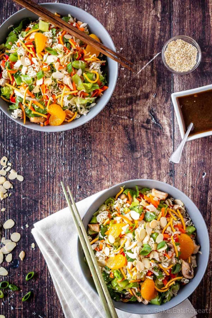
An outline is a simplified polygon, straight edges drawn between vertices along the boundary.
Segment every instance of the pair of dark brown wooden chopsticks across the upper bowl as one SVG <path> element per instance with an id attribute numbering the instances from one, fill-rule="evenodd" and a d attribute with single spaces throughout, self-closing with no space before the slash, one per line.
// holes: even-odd
<path id="1" fill-rule="evenodd" d="M 135 70 L 133 70 L 132 67 L 130 67 L 130 66 L 125 64 L 125 63 L 128 63 L 128 64 L 133 65 L 132 62 L 130 62 L 127 59 L 123 58 L 119 53 L 114 52 L 113 50 L 111 50 L 108 47 L 106 47 L 104 44 L 94 40 L 89 35 L 85 34 L 84 32 L 79 31 L 77 28 L 75 28 L 72 25 L 68 24 L 64 20 L 56 17 L 52 12 L 50 12 L 47 9 L 45 9 L 43 6 L 40 6 L 39 4 L 34 3 L 31 0 L 13 0 L 13 1 L 15 1 L 18 4 L 20 4 L 24 8 L 30 10 L 31 12 L 37 14 L 39 17 L 42 17 L 43 19 L 45 19 L 46 21 L 50 22 L 51 24 L 54 24 L 54 25 L 58 26 L 60 29 L 70 33 L 73 36 L 75 36 L 76 38 L 79 38 L 80 40 L 82 40 L 86 44 L 91 45 L 97 51 L 105 54 L 109 58 L 113 59 L 114 61 L 118 62 L 122 66 L 124 66 L 127 69 L 129 69 L 130 71 L 135 72 Z M 116 56 L 119 59 L 117 59 Z"/>

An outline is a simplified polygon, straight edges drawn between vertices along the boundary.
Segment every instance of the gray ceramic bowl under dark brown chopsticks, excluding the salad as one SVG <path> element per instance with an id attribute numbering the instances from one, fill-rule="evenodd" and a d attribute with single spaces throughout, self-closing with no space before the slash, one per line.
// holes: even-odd
<path id="1" fill-rule="evenodd" d="M 101 39 L 104 45 L 106 45 L 107 47 L 115 51 L 115 46 L 113 44 L 113 41 L 109 33 L 106 31 L 104 26 L 97 19 L 92 17 L 92 15 L 90 15 L 88 12 L 85 12 L 82 9 L 79 9 L 77 7 L 74 7 L 72 5 L 65 4 L 65 3 L 43 3 L 41 5 L 53 13 L 58 12 L 62 16 L 67 16 L 70 13 L 72 17 L 76 17 L 78 20 L 88 23 L 89 31 L 91 33 L 95 33 L 98 36 L 98 38 Z M 12 24 L 19 23 L 25 17 L 31 17 L 32 20 L 38 19 L 37 15 L 35 15 L 34 13 L 26 9 L 17 11 L 0 26 L 0 44 L 5 43 L 6 41 L 6 37 L 10 32 L 8 30 L 8 27 Z M 8 117 L 16 121 L 18 124 L 24 125 L 24 127 L 31 128 L 34 130 L 55 132 L 55 131 L 63 131 L 63 130 L 69 130 L 72 128 L 79 127 L 85 124 L 87 121 L 90 121 L 97 114 L 99 114 L 99 112 L 105 107 L 108 100 L 111 98 L 113 94 L 116 81 L 117 81 L 117 76 L 118 76 L 118 63 L 109 58 L 107 59 L 107 61 L 108 61 L 108 76 L 107 76 L 108 89 L 103 93 L 103 96 L 101 98 L 97 99 L 97 104 L 94 107 L 92 107 L 91 111 L 86 116 L 82 115 L 80 118 L 70 123 L 63 123 L 60 126 L 42 127 L 38 124 L 34 124 L 30 122 L 28 119 L 26 120 L 25 125 L 23 123 L 23 120 L 20 120 L 20 118 L 13 119 L 11 117 L 11 112 L 8 111 L 8 103 L 2 99 L 0 99 L 0 108 Z"/>

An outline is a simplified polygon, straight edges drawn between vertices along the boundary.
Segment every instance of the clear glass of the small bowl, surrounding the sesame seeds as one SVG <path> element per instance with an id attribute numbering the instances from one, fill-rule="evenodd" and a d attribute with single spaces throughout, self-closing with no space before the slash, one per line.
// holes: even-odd
<path id="1" fill-rule="evenodd" d="M 164 53 L 165 53 L 165 51 L 166 51 L 166 49 L 167 49 L 167 45 L 168 45 L 171 41 L 177 40 L 177 39 L 181 39 L 181 40 L 183 40 L 183 41 L 185 41 L 185 42 L 188 42 L 189 44 L 194 45 L 195 48 L 197 49 L 196 64 L 195 64 L 195 66 L 194 66 L 191 70 L 189 70 L 188 72 L 177 72 L 177 71 L 174 71 L 174 70 L 173 70 L 172 68 L 170 68 L 170 67 L 168 66 L 168 64 L 166 63 L 166 59 L 165 59 Z M 193 71 L 197 68 L 197 66 L 200 64 L 201 58 L 202 58 L 202 53 L 201 53 L 201 48 L 200 48 L 199 44 L 198 44 L 195 40 L 193 40 L 192 38 L 187 37 L 186 35 L 178 35 L 178 36 L 176 36 L 176 37 L 170 38 L 170 39 L 165 43 L 165 45 L 164 45 L 164 47 L 163 47 L 163 50 L 162 50 L 162 60 L 163 60 L 164 65 L 168 68 L 168 70 L 169 70 L 170 72 L 175 73 L 175 74 L 188 74 L 188 73 L 193 72 Z"/>

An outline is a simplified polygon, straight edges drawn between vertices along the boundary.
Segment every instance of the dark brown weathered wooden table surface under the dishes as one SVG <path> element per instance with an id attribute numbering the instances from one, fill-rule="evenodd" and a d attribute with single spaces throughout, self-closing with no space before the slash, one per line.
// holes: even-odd
<path id="1" fill-rule="evenodd" d="M 39 133 L 0 112 L 0 156 L 6 155 L 25 177 L 21 185 L 15 182 L 10 199 L 0 203 L 6 208 L 1 212 L 1 223 L 14 219 L 22 235 L 14 259 L 21 249 L 26 252 L 18 268 L 9 266 L 9 280 L 22 292 L 10 293 L 1 300 L 0 314 L 6 318 L 64 317 L 44 258 L 37 246 L 31 250 L 33 224 L 66 206 L 61 179 L 71 185 L 77 201 L 129 179 L 167 182 L 193 200 L 212 238 L 212 138 L 188 142 L 179 165 L 168 161 L 181 140 L 171 93 L 211 84 L 212 1 L 46 2 L 70 3 L 96 17 L 117 50 L 134 62 L 137 75 L 120 67 L 115 91 L 104 110 L 74 130 Z M 2 0 L 0 10 L 2 23 L 20 7 L 11 0 Z M 199 43 L 202 61 L 193 73 L 177 76 L 164 67 L 161 50 L 169 38 L 182 34 Z M 36 279 L 26 283 L 25 274 L 32 270 L 37 273 Z M 201 284 L 189 297 L 200 312 L 198 317 L 212 317 L 211 277 L 210 257 Z M 21 295 L 31 288 L 34 299 L 22 303 Z"/>

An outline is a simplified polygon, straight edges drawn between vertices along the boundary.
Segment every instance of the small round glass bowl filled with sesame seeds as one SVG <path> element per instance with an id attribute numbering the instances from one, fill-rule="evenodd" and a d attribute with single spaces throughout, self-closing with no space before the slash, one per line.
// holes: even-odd
<path id="1" fill-rule="evenodd" d="M 162 50 L 162 60 L 168 70 L 175 74 L 193 72 L 202 57 L 198 43 L 185 35 L 170 38 Z"/>

